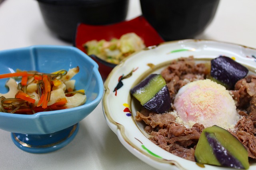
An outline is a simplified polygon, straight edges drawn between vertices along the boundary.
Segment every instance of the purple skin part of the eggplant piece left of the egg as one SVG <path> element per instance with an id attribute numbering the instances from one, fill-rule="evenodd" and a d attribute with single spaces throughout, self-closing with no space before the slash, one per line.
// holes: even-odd
<path id="1" fill-rule="evenodd" d="M 156 95 L 143 105 L 146 109 L 156 113 L 165 113 L 172 107 L 171 97 L 167 86 L 164 86 Z"/>

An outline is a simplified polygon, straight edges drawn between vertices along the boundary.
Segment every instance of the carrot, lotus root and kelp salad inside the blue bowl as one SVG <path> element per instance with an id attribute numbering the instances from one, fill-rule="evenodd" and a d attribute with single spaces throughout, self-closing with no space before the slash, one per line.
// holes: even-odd
<path id="1" fill-rule="evenodd" d="M 0 111 L 31 115 L 83 105 L 84 89 L 76 91 L 75 80 L 71 80 L 78 72 L 79 67 L 74 67 L 54 73 L 18 70 L 2 74 L 0 78 L 10 79 L 6 83 L 9 91 L 0 93 Z"/>

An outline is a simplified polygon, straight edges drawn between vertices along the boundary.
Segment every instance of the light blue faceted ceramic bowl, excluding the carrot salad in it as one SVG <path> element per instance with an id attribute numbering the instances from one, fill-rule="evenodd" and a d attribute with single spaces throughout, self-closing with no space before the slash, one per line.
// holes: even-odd
<path id="1" fill-rule="evenodd" d="M 52 133 L 61 132 L 61 137 L 57 136 L 56 139 L 46 141 L 43 145 L 47 145 L 48 147 L 51 142 L 58 143 L 59 140 L 67 138 L 65 137 L 65 133 L 70 133 L 71 131 L 73 133 L 78 127 L 78 122 L 88 116 L 102 99 L 104 87 L 98 71 L 98 65 L 88 57 L 88 55 L 76 47 L 35 45 L 19 49 L 4 50 L 0 51 L 0 60 L 0 74 L 15 72 L 16 69 L 51 73 L 60 69 L 69 70 L 79 66 L 79 73 L 72 79 L 76 80 L 76 89 L 84 89 L 87 97 L 84 105 L 70 109 L 39 112 L 34 115 L 0 112 L 0 128 L 12 132 L 14 142 L 26 142 L 20 141 L 24 140 L 19 138 L 22 135 L 26 137 L 30 135 L 34 138 L 34 134 L 45 134 L 41 136 L 47 138 L 47 136 L 52 136 Z M 8 91 L 8 89 L 5 88 L 7 80 L 8 79 L 0 79 L 0 93 L 6 93 Z M 67 128 L 70 128 L 70 130 L 65 132 L 64 129 Z M 42 140 L 40 140 L 40 142 L 41 141 Z M 30 145 L 37 145 L 37 142 L 30 143 Z M 39 146 L 36 146 L 36 148 L 39 148 Z"/>

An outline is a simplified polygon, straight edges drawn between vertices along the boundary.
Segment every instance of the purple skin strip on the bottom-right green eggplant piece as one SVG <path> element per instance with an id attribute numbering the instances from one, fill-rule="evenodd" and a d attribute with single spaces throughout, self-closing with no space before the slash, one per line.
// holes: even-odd
<path id="1" fill-rule="evenodd" d="M 232 156 L 226 148 L 224 148 L 218 140 L 210 136 L 208 132 L 205 132 L 205 136 L 212 147 L 213 154 L 216 156 L 217 160 L 220 162 L 222 166 L 236 168 L 236 169 L 244 169 L 244 166 L 238 161 L 234 156 Z"/>

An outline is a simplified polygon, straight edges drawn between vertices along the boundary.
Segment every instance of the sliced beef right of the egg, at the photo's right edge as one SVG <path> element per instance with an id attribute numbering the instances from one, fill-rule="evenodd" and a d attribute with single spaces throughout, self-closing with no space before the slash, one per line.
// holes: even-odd
<path id="1" fill-rule="evenodd" d="M 243 110 L 239 111 L 242 119 L 231 133 L 246 147 L 248 156 L 256 159 L 256 75 L 239 80 L 231 92 L 237 108 Z"/>

